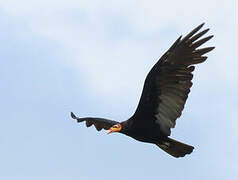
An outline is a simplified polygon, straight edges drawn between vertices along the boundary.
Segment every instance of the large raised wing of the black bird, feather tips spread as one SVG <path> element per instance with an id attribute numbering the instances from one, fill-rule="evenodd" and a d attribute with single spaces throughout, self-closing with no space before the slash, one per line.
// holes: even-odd
<path id="1" fill-rule="evenodd" d="M 204 62 L 207 57 L 203 55 L 214 49 L 198 49 L 213 37 L 200 39 L 209 30 L 198 33 L 203 25 L 195 28 L 183 39 L 180 36 L 154 65 L 145 80 L 134 116 L 148 117 L 137 118 L 143 123 L 149 123 L 148 119 L 153 119 L 167 136 L 171 133 L 170 128 L 175 127 L 176 119 L 181 116 L 188 98 L 192 86 L 192 72 L 195 69 L 192 65 Z"/>

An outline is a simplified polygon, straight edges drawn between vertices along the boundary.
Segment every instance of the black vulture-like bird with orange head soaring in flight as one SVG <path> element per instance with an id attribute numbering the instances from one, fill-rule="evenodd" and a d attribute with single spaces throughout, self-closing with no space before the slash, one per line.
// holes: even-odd
<path id="1" fill-rule="evenodd" d="M 215 47 L 200 48 L 213 36 L 200 39 L 209 29 L 198 32 L 202 26 L 196 27 L 187 36 L 180 36 L 169 50 L 159 59 L 147 75 L 139 105 L 132 117 L 123 122 L 103 118 L 78 118 L 78 122 L 86 121 L 86 126 L 94 125 L 98 131 L 109 130 L 109 133 L 120 132 L 138 141 L 154 143 L 174 157 L 190 154 L 194 147 L 169 138 L 171 128 L 181 116 L 184 104 L 192 86 L 195 67 L 204 62 L 203 56 Z"/>

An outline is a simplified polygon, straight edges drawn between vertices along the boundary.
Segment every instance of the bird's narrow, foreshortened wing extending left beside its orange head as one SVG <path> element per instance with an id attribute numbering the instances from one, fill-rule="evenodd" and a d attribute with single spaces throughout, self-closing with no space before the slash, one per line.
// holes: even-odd
<path id="1" fill-rule="evenodd" d="M 94 125 L 98 131 L 101 131 L 102 129 L 108 130 L 110 129 L 110 127 L 118 123 L 117 121 L 112 121 L 112 120 L 103 119 L 103 118 L 92 118 L 92 117 L 78 118 L 72 112 L 71 112 L 71 117 L 73 119 L 76 119 L 77 122 L 79 123 L 85 121 L 87 127 Z"/>

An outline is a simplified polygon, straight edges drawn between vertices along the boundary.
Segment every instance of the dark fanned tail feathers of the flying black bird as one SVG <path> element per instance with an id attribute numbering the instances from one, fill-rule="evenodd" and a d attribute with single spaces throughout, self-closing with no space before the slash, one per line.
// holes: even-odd
<path id="1" fill-rule="evenodd" d="M 162 150 L 167 152 L 173 157 L 184 157 L 186 154 L 193 152 L 194 147 L 181 143 L 171 138 L 167 138 L 166 141 L 161 144 L 157 144 Z"/>

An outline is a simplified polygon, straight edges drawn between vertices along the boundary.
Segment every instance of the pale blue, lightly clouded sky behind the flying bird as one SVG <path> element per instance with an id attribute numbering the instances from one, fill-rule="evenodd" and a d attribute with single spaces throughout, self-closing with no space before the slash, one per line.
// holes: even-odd
<path id="1" fill-rule="evenodd" d="M 2 0 L 0 179 L 238 178 L 235 0 Z M 195 147 L 175 159 L 153 144 L 70 118 L 128 119 L 150 68 L 199 24 L 216 46 L 197 66 L 171 137 Z"/>

